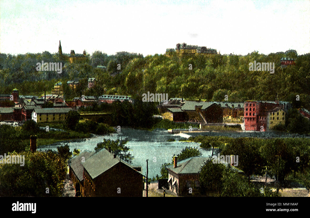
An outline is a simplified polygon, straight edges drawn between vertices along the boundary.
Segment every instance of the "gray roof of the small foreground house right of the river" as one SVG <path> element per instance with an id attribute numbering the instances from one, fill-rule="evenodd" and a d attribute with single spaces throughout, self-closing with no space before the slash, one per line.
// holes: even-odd
<path id="1" fill-rule="evenodd" d="M 173 171 L 174 173 L 181 174 L 181 173 L 199 173 L 201 170 L 201 166 L 204 165 L 204 163 L 207 160 L 213 160 L 213 158 L 210 157 L 190 157 L 185 160 L 178 161 L 177 167 L 174 168 L 173 164 L 166 166 L 167 169 Z M 218 159 L 219 161 L 219 159 Z M 225 162 L 224 165 L 227 167 L 230 165 L 229 163 Z M 242 170 L 238 169 L 235 166 L 231 166 L 232 169 L 243 172 Z"/>

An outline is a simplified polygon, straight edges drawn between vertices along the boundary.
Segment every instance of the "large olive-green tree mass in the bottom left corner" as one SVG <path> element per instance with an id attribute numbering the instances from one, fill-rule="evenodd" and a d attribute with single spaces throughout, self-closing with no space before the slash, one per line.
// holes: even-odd
<path id="1" fill-rule="evenodd" d="M 61 196 L 67 163 L 56 152 L 20 152 L 24 166 L 0 164 L 0 195 L 13 196 Z M 49 188 L 49 193 L 46 193 Z"/>

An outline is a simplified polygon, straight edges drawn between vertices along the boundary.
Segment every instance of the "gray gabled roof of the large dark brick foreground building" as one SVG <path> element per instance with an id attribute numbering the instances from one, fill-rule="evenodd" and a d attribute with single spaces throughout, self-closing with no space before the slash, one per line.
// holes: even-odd
<path id="1" fill-rule="evenodd" d="M 121 160 L 118 156 L 114 158 L 113 153 L 108 152 L 108 150 L 106 150 L 105 148 L 101 149 L 99 152 L 89 157 L 87 160 L 85 160 L 84 163 L 82 163 L 82 165 L 87 170 L 91 178 L 94 179 L 108 169 L 112 168 L 114 165 L 118 164 L 119 162 L 122 162 L 123 164 L 133 169 L 133 166 Z M 140 173 L 137 170 L 135 171 L 137 173 Z"/>

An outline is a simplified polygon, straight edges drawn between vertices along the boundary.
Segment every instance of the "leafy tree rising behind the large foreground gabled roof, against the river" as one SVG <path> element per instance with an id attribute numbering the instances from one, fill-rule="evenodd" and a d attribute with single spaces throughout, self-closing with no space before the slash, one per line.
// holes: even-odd
<path id="1" fill-rule="evenodd" d="M 134 156 L 132 156 L 129 152 L 129 147 L 125 145 L 127 142 L 128 140 L 120 141 L 119 139 L 103 139 L 103 142 L 97 144 L 97 146 L 95 147 L 95 151 L 98 152 L 103 148 L 107 150 L 111 149 L 111 152 L 119 156 L 122 160 L 125 160 L 128 163 L 132 163 L 132 159 L 134 159 Z"/>

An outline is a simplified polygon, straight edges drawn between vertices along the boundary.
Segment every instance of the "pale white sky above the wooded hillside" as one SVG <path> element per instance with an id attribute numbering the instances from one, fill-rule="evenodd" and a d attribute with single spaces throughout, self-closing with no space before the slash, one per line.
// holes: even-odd
<path id="1" fill-rule="evenodd" d="M 0 53 L 310 52 L 310 1 L 0 0 Z"/>

